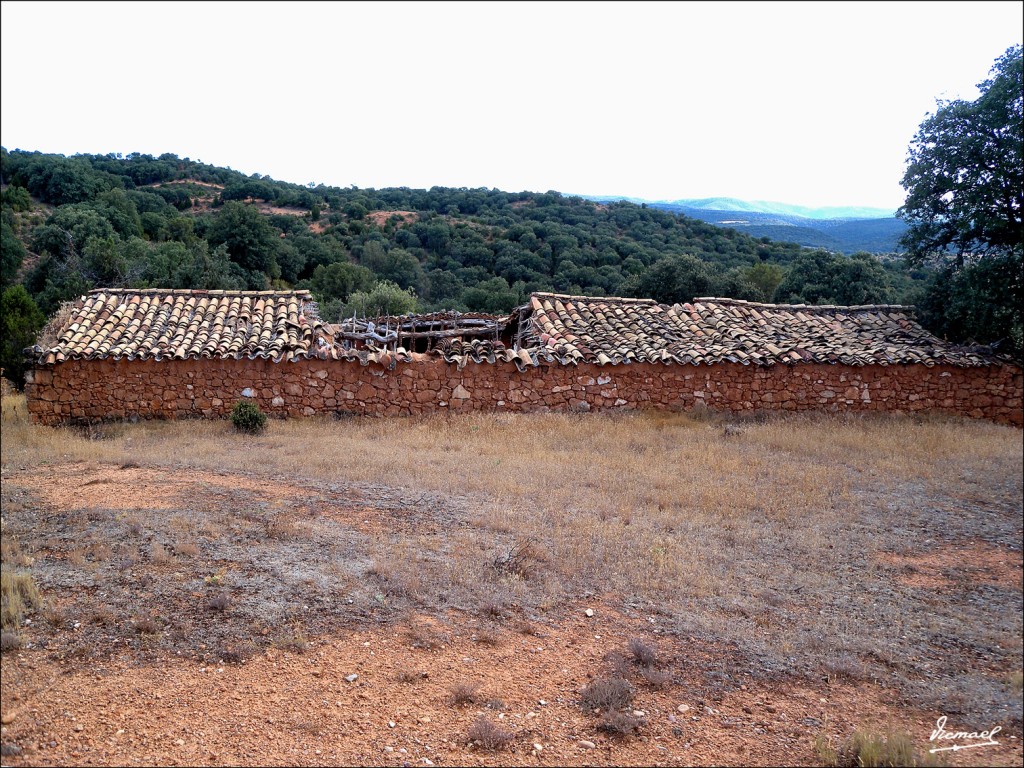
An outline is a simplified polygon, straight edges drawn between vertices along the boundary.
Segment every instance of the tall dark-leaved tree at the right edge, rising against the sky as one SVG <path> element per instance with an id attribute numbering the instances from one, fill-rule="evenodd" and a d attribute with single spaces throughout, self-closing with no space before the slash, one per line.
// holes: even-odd
<path id="1" fill-rule="evenodd" d="M 1024 58 L 1002 54 L 975 101 L 940 103 L 909 147 L 898 215 L 910 263 L 937 261 L 925 322 L 1024 354 Z"/>

